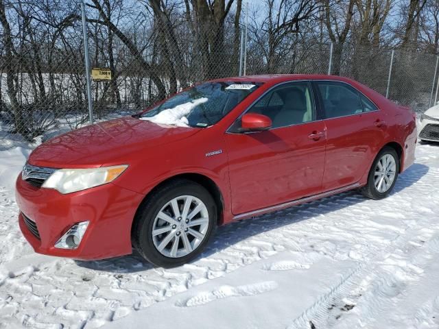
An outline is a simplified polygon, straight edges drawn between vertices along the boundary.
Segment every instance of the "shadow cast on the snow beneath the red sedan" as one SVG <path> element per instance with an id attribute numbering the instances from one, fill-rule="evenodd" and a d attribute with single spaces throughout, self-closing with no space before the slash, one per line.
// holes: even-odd
<path id="1" fill-rule="evenodd" d="M 407 171 L 399 176 L 394 191 L 399 193 L 405 188 L 412 186 L 418 182 L 425 174 L 427 174 L 429 167 L 424 164 L 415 163 Z M 251 236 L 268 232 L 282 226 L 287 226 L 299 221 L 306 221 L 319 215 L 325 215 L 328 212 L 334 212 L 342 208 L 354 206 L 367 199 L 360 195 L 357 191 L 349 191 L 331 197 L 325 197 L 314 202 L 293 206 L 284 210 L 278 210 L 267 215 L 261 215 L 252 219 L 237 221 L 226 226 L 217 228 L 215 236 L 211 239 L 209 245 L 206 246 L 204 252 L 193 260 L 196 262 L 200 258 L 206 258 L 222 249 L 235 245 L 239 241 L 244 241 Z M 346 221 L 349 219 L 346 218 Z M 83 261 L 75 260 L 75 263 L 80 267 L 93 269 L 97 271 L 108 271 L 114 273 L 136 273 L 139 271 L 147 271 L 154 269 L 154 265 L 148 263 L 142 256 L 133 250 L 133 253 L 128 256 L 121 256 L 117 258 L 108 258 L 105 260 Z"/>

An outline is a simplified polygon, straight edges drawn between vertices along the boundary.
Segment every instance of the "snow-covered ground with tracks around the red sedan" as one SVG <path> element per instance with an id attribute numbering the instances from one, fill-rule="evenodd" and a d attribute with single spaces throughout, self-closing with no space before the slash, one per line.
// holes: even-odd
<path id="1" fill-rule="evenodd" d="M 439 328 L 439 145 L 381 201 L 344 193 L 217 230 L 198 260 L 34 254 L 0 151 L 0 328 Z"/>

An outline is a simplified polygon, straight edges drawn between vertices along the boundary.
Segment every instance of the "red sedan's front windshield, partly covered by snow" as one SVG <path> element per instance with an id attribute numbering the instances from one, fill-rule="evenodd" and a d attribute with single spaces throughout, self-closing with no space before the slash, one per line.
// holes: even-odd
<path id="1" fill-rule="evenodd" d="M 208 127 L 259 87 L 259 83 L 208 82 L 183 91 L 141 114 L 141 120 L 178 127 Z"/>

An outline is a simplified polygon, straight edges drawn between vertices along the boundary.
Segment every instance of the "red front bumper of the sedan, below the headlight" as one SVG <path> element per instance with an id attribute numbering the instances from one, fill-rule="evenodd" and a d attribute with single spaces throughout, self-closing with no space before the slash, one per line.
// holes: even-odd
<path id="1" fill-rule="evenodd" d="M 51 256 L 93 260 L 131 254 L 132 220 L 143 197 L 111 183 L 61 194 L 29 184 L 21 175 L 16 180 L 21 232 L 35 252 Z M 82 221 L 90 223 L 77 249 L 54 247 Z"/>

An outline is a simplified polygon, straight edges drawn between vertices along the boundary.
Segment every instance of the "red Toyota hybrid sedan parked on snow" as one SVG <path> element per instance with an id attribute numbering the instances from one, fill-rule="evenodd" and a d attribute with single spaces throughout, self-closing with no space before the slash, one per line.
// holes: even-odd
<path id="1" fill-rule="evenodd" d="M 414 113 L 344 77 L 230 77 L 52 138 L 16 180 L 35 251 L 172 267 L 215 227 L 335 193 L 386 197 L 414 162 Z"/>

